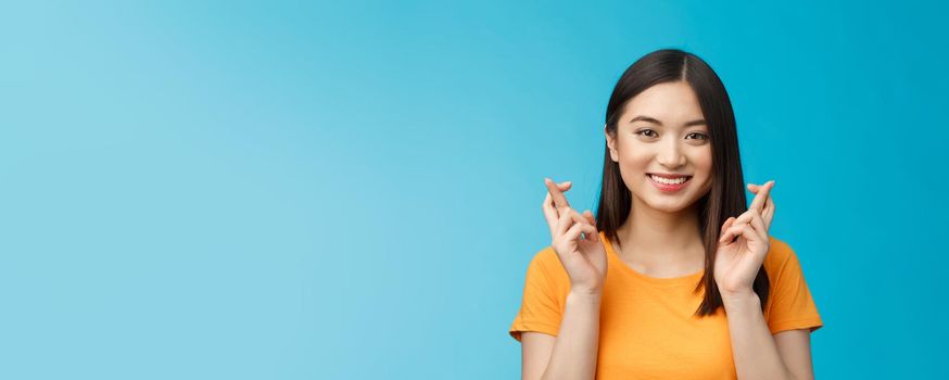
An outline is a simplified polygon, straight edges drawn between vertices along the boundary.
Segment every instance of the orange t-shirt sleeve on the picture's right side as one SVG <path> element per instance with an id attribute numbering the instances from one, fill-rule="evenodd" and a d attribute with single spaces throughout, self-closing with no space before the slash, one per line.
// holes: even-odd
<path id="1" fill-rule="evenodd" d="M 805 281 L 800 262 L 790 246 L 784 242 L 777 244 L 785 255 L 777 266 L 776 281 L 771 283 L 768 328 L 772 334 L 795 329 L 813 332 L 823 326 L 823 321 Z"/>

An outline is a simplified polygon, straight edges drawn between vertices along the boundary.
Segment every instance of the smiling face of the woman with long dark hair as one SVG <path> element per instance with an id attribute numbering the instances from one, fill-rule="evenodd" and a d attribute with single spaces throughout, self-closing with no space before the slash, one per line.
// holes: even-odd
<path id="1" fill-rule="evenodd" d="M 606 134 L 606 138 L 610 157 L 619 163 L 623 182 L 638 203 L 675 213 L 692 206 L 711 188 L 708 127 L 698 98 L 685 81 L 659 84 L 635 96 L 617 122 L 616 137 Z M 691 178 L 670 188 L 649 174 Z"/>

